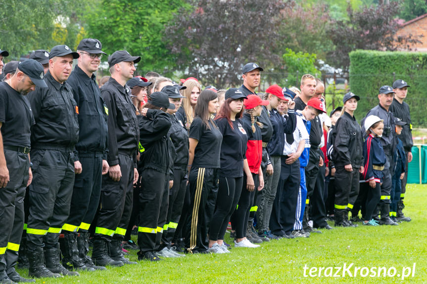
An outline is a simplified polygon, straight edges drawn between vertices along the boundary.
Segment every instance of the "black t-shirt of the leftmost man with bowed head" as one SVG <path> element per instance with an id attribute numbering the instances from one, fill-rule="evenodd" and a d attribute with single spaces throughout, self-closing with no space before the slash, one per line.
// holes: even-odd
<path id="1" fill-rule="evenodd" d="M 26 96 L 0 82 L 0 122 L 3 145 L 30 147 L 33 112 Z"/>

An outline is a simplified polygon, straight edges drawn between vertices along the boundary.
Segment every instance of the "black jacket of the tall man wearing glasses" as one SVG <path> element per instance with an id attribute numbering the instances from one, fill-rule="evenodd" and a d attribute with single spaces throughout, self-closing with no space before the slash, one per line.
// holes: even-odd
<path id="1" fill-rule="evenodd" d="M 108 108 L 101 97 L 96 77 L 89 77 L 79 66 L 74 68 L 67 80 L 73 89 L 74 100 L 79 107 L 79 153 L 101 152 L 103 159 L 108 154 Z"/>

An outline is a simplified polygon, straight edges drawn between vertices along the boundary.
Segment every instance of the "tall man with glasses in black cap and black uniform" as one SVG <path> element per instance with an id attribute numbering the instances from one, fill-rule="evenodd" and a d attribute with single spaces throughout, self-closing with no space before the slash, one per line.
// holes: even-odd
<path id="1" fill-rule="evenodd" d="M 78 160 L 84 170 L 76 174 L 71 198 L 70 215 L 62 226 L 64 233 L 64 258 L 68 269 L 95 271 L 87 256 L 89 251 L 89 227 L 99 204 L 102 175 L 108 172 L 108 109 L 101 98 L 95 72 L 102 54 L 101 43 L 83 39 L 77 47 L 78 64 L 71 72 L 70 84 L 79 108 L 79 141 L 76 144 Z"/>

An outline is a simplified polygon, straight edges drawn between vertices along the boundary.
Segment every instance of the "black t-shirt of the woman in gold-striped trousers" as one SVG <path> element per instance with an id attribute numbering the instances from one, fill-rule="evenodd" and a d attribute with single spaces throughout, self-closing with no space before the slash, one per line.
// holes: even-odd
<path id="1" fill-rule="evenodd" d="M 195 117 L 190 126 L 189 137 L 198 141 L 194 150 L 192 167 L 220 167 L 220 150 L 222 134 L 217 129 L 215 122 L 208 122 L 206 127 L 201 118 Z"/>

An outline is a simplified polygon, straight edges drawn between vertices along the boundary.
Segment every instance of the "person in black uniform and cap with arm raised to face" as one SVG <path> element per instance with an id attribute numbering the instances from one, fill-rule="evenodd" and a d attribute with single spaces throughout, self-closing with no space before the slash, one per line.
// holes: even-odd
<path id="1" fill-rule="evenodd" d="M 154 249 L 156 243 L 160 243 L 157 236 L 160 233 L 161 237 L 165 225 L 159 223 L 159 217 L 162 206 L 168 207 L 168 199 L 165 199 L 165 203 L 162 200 L 165 194 L 169 195 L 171 162 L 167 134 L 172 122 L 165 113 L 166 109 L 175 109 L 175 105 L 169 103 L 168 95 L 165 93 L 154 92 L 150 95 L 142 116 L 138 117 L 140 143 L 144 148 L 140 158 L 142 188 L 138 226 L 139 260 L 160 260 Z"/>

